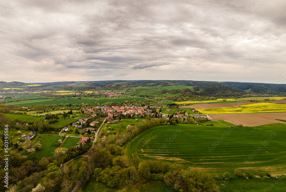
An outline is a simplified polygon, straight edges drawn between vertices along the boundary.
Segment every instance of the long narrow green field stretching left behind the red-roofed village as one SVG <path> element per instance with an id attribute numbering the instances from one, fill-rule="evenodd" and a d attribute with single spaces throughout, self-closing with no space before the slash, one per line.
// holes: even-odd
<path id="1" fill-rule="evenodd" d="M 124 102 L 124 101 L 132 101 L 132 100 L 140 101 L 145 100 L 145 98 L 141 97 L 123 97 L 123 98 L 106 98 L 101 97 L 98 99 L 92 99 L 92 98 L 82 98 L 82 99 L 67 99 L 67 98 L 61 98 L 61 99 L 39 99 L 39 100 L 29 100 L 29 101 L 18 101 L 18 102 L 11 102 L 11 103 L 5 103 L 5 104 L 13 104 L 13 105 L 48 105 L 48 104 L 65 104 L 65 103 L 72 103 L 72 104 L 82 104 L 82 103 L 95 103 L 98 102 L 100 104 L 106 103 L 106 102 Z"/>

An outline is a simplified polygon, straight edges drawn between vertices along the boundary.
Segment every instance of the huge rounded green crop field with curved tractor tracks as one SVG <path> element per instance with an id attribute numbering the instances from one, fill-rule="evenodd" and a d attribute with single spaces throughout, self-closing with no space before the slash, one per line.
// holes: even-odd
<path id="1" fill-rule="evenodd" d="M 213 175 L 235 169 L 285 174 L 285 134 L 285 126 L 157 126 L 128 142 L 124 157 L 179 162 Z M 251 159 L 253 150 L 258 152 Z"/>

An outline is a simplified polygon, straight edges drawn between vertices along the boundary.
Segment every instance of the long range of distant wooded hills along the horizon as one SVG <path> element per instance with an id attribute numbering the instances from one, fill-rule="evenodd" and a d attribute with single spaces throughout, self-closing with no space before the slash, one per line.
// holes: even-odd
<path id="1" fill-rule="evenodd" d="M 80 84 L 79 84 L 80 83 Z M 211 81 L 190 81 L 190 80 L 104 80 L 90 82 L 49 82 L 37 83 L 37 86 L 21 82 L 1 83 L 0 88 L 22 88 L 23 90 L 124 90 L 124 89 L 148 89 L 148 87 L 168 87 L 167 89 L 179 89 L 177 93 L 184 95 L 201 96 L 240 96 L 243 94 L 286 94 L 286 84 L 266 84 L 266 83 L 247 83 L 247 82 L 211 82 Z M 79 84 L 82 86 L 72 86 Z M 180 86 L 178 86 L 180 85 Z M 171 87 L 170 86 L 174 86 Z M 184 86 L 188 86 L 184 88 Z M 190 88 L 190 86 L 192 88 Z"/>

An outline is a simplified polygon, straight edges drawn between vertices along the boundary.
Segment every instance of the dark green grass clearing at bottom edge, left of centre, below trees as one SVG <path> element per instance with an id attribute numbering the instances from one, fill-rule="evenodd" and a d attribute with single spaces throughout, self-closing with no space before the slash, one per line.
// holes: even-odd
<path id="1" fill-rule="evenodd" d="M 127 185 L 122 188 L 111 188 L 104 185 L 102 182 L 97 182 L 94 177 L 91 177 L 90 180 L 86 183 L 83 188 L 84 192 L 90 191 L 101 191 L 101 192 L 168 192 L 173 191 L 174 189 L 169 189 L 169 187 L 160 180 L 157 181 L 146 181 L 140 182 L 136 185 Z"/>

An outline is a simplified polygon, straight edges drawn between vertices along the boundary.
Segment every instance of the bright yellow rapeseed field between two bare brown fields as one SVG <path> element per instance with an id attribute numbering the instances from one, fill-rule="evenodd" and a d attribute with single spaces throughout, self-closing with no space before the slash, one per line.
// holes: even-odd
<path id="1" fill-rule="evenodd" d="M 286 112 L 285 104 L 254 103 L 237 107 L 198 109 L 202 114 L 273 113 Z"/>

